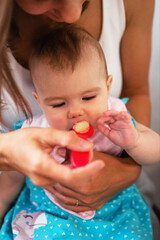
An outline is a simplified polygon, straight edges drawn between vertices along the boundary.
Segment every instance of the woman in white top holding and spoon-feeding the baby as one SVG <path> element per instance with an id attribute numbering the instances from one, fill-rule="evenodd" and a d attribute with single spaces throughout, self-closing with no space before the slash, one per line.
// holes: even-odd
<path id="1" fill-rule="evenodd" d="M 23 114 L 17 112 L 16 105 L 3 90 L 2 101 L 9 106 L 9 109 L 4 108 L 1 111 L 6 124 L 6 127 L 2 125 L 3 131 L 9 131 L 14 122 L 24 119 L 24 115 L 29 113 L 29 108 L 33 114 L 40 111 L 31 96 L 33 86 L 27 70 L 28 56 L 32 41 L 39 34 L 53 27 L 55 22 L 76 22 L 100 41 L 108 60 L 109 73 L 114 73 L 111 95 L 128 97 L 127 107 L 132 116 L 137 121 L 149 125 L 148 71 L 153 0 L 145 1 L 145 7 L 142 0 L 134 2 L 132 0 L 16 0 L 13 5 L 8 38 L 12 54 L 9 52 L 8 56 L 13 77 L 21 94 L 18 95 L 18 89 L 14 87 L 11 96 L 18 95 L 18 98 L 13 99 L 17 106 L 22 108 Z M 2 84 L 4 86 L 4 82 Z M 13 88 L 13 85 L 9 86 Z M 27 104 L 21 96 L 24 96 L 29 103 Z M 53 165 L 46 153 L 51 151 L 54 144 L 76 149 L 76 144 L 73 144 L 75 136 L 67 134 L 66 138 L 64 135 L 53 129 L 44 130 L 43 134 L 39 129 L 1 134 L 1 169 L 18 170 L 30 177 L 35 185 L 48 187 L 50 191 L 56 181 L 54 192 L 57 191 L 57 198 L 62 206 L 72 210 L 71 199 L 74 198 L 76 204 L 78 199 L 81 211 L 101 208 L 106 201 L 138 178 L 140 166 L 131 158 L 119 159 L 98 152 L 94 152 L 94 160 L 101 159 L 103 163 L 96 161 L 84 169 L 74 171 L 63 166 L 63 176 L 61 176 L 62 166 L 55 163 Z M 62 136 L 63 143 L 60 140 Z M 42 150 L 45 151 L 44 157 L 47 158 L 45 164 L 40 156 Z M 96 170 L 97 178 L 93 180 Z"/>

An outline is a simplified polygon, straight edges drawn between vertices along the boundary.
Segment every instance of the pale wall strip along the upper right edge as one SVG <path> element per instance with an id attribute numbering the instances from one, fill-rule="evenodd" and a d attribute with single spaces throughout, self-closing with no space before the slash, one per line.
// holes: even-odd
<path id="1" fill-rule="evenodd" d="M 160 0 L 155 0 L 150 65 L 151 128 L 160 134 Z"/>

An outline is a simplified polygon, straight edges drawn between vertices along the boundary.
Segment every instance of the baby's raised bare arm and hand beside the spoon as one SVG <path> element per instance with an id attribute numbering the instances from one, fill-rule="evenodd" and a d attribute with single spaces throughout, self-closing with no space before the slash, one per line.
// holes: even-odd
<path id="1" fill-rule="evenodd" d="M 135 128 L 127 112 L 108 110 L 97 121 L 97 127 L 139 164 L 160 161 L 160 136 L 140 123 Z"/>

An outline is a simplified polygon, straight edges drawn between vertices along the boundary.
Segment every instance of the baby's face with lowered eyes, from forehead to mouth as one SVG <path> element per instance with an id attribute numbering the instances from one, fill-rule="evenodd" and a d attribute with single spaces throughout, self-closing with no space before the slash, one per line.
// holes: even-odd
<path id="1" fill-rule="evenodd" d="M 34 96 L 52 127 L 70 130 L 82 120 L 96 127 L 97 119 L 107 110 L 110 83 L 98 61 L 83 61 L 74 72 L 54 71 L 49 65 L 37 62 L 32 78 Z"/>

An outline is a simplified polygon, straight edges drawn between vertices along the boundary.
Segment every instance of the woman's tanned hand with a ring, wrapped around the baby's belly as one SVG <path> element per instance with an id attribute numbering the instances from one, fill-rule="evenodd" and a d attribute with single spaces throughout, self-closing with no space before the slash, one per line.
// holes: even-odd
<path id="1" fill-rule="evenodd" d="M 96 176 L 70 185 L 56 183 L 47 189 L 63 207 L 76 212 L 100 209 L 113 196 L 134 183 L 141 171 L 141 167 L 131 158 L 94 152 L 94 161 L 96 159 L 103 160 L 105 164 Z"/>

